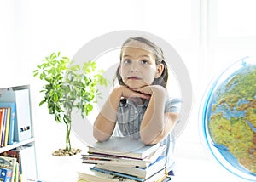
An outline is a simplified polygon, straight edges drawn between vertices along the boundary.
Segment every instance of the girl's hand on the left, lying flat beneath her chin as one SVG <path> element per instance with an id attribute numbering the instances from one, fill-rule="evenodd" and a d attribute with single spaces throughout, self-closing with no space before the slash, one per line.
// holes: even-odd
<path id="1" fill-rule="evenodd" d="M 145 100 L 150 100 L 150 97 L 151 97 L 151 95 L 143 94 L 143 93 L 131 90 L 130 88 L 127 88 L 126 86 L 123 86 L 123 85 L 117 88 L 114 88 L 113 92 L 118 92 L 119 95 L 125 99 L 139 97 Z"/>

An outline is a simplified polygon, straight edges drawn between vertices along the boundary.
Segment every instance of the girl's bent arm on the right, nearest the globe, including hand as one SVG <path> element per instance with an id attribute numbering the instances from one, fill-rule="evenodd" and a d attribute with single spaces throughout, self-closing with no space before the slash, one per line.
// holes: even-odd
<path id="1" fill-rule="evenodd" d="M 141 123 L 140 135 L 144 144 L 156 144 L 165 139 L 177 123 L 177 113 L 165 113 L 166 88 L 159 85 L 140 88 L 138 91 L 151 94 L 148 108 Z"/>

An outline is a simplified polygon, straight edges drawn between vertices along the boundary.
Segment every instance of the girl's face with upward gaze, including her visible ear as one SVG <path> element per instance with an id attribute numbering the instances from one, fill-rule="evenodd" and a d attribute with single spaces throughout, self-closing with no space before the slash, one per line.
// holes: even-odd
<path id="1" fill-rule="evenodd" d="M 148 50 L 146 44 L 137 41 L 127 43 L 122 49 L 119 72 L 125 85 L 131 89 L 151 85 L 164 69 L 162 64 L 155 64 L 155 55 Z"/>

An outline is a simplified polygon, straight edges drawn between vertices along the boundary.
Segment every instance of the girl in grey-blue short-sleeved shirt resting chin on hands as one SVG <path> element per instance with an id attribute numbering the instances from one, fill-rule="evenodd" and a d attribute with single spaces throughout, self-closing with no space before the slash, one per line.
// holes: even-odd
<path id="1" fill-rule="evenodd" d="M 113 88 L 94 123 L 94 137 L 115 134 L 141 139 L 145 145 L 166 145 L 166 168 L 172 170 L 172 129 L 180 100 L 167 97 L 168 70 L 162 50 L 143 37 L 131 37 L 121 48 Z"/>

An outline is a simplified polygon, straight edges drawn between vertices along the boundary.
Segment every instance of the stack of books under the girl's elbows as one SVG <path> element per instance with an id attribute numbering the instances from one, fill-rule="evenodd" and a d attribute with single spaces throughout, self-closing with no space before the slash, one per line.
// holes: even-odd
<path id="1" fill-rule="evenodd" d="M 82 155 L 79 182 L 163 181 L 166 179 L 165 145 L 144 145 L 140 139 L 110 137 L 96 142 Z"/>

